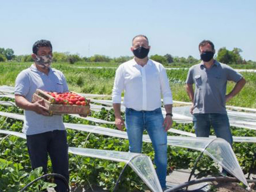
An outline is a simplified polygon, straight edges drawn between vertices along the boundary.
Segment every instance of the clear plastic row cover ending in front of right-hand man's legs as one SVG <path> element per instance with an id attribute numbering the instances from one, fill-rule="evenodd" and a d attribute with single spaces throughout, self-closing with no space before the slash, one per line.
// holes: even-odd
<path id="1" fill-rule="evenodd" d="M 15 115 L 17 115 L 17 114 L 0 112 L 0 115 L 15 118 Z M 17 115 L 17 118 L 21 119 L 22 116 L 23 115 Z M 24 118 L 24 116 L 23 116 L 23 118 Z M 94 126 L 94 125 L 71 124 L 71 123 L 64 123 L 64 125 L 66 128 L 73 129 L 73 130 L 92 132 L 92 133 L 107 135 L 107 136 L 111 136 L 111 137 L 128 139 L 126 132 L 122 132 L 122 131 L 114 130 L 114 129 L 110 129 L 110 128 Z M 143 135 L 142 140 L 144 142 L 151 142 L 148 135 Z M 219 142 L 219 140 L 221 140 L 221 142 Z M 209 145 L 210 143 L 214 143 L 215 145 Z M 235 167 L 235 169 L 234 169 L 235 172 L 230 170 L 228 166 L 225 167 L 225 168 L 227 168 L 226 170 L 230 174 L 234 175 L 238 180 L 240 180 L 241 177 L 244 177 L 244 174 L 242 176 L 237 175 L 237 174 L 241 174 L 241 172 L 243 172 L 240 165 L 238 164 L 238 161 L 236 160 L 236 161 L 233 161 L 232 163 L 230 163 L 230 159 L 234 159 L 234 158 L 236 159 L 236 156 L 235 156 L 232 148 L 220 146 L 219 147 L 220 149 L 225 148 L 225 150 L 220 150 L 217 152 L 215 151 L 216 146 L 223 145 L 223 143 L 225 145 L 229 145 L 227 141 L 220 139 L 220 138 L 215 139 L 215 138 L 204 138 L 204 137 L 194 138 L 194 137 L 177 137 L 177 136 L 168 136 L 167 137 L 167 144 L 176 146 L 176 147 L 190 148 L 190 149 L 194 149 L 194 150 L 204 151 L 205 148 L 209 145 L 207 147 L 206 155 L 210 156 L 216 163 L 219 163 L 220 165 L 226 166 L 227 164 L 231 164 L 232 165 L 232 166 L 230 165 L 231 167 Z M 213 149 L 212 149 L 212 146 L 213 146 Z M 245 178 L 240 181 L 242 181 L 244 184 L 246 184 L 244 182 L 244 180 L 245 180 Z"/>

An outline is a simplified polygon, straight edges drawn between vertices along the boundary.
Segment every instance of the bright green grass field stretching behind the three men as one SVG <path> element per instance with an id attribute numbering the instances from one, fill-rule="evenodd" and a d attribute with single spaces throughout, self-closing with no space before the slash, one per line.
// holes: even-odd
<path id="1" fill-rule="evenodd" d="M 92 63 L 83 62 L 81 64 L 92 67 Z M 116 69 L 75 68 L 81 64 L 53 63 L 52 67 L 64 73 L 71 91 L 111 95 Z M 0 63 L 0 85 L 14 86 L 16 76 L 21 70 L 28 68 L 30 65 L 31 63 Z M 117 66 L 117 64 L 110 63 L 96 63 L 95 65 L 98 67 Z M 173 99 L 190 101 L 185 90 L 188 69 L 167 70 L 166 72 L 170 81 Z M 242 75 L 247 84 L 227 105 L 256 108 L 256 74 L 243 72 Z M 228 82 L 227 92 L 230 92 L 234 86 L 233 82 Z"/>

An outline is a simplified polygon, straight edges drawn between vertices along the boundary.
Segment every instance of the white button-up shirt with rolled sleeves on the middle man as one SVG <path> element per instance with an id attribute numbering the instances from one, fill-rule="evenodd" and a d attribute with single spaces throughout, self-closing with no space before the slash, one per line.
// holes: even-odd
<path id="1" fill-rule="evenodd" d="M 132 59 L 121 64 L 116 70 L 112 92 L 113 103 L 121 103 L 124 91 L 124 106 L 138 111 L 153 111 L 172 104 L 172 92 L 165 68 L 161 63 L 148 60 L 144 67 Z"/>

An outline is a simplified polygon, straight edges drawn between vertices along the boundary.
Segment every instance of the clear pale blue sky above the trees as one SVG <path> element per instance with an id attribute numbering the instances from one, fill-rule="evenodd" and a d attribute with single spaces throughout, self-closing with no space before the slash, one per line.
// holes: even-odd
<path id="1" fill-rule="evenodd" d="M 17 55 L 48 39 L 53 51 L 132 56 L 133 36 L 145 34 L 150 55 L 199 58 L 209 39 L 216 52 L 238 47 L 256 61 L 255 0 L 0 0 L 0 19 L 0 47 Z"/>

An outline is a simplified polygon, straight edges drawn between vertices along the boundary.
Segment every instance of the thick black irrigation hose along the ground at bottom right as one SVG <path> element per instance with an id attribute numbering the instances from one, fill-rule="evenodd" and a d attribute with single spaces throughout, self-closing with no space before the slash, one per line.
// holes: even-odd
<path id="1" fill-rule="evenodd" d="M 185 183 L 181 183 L 178 186 L 175 186 L 173 188 L 169 188 L 165 190 L 164 192 L 171 192 L 171 191 L 178 191 L 184 187 L 188 187 L 190 185 L 195 185 L 197 183 L 203 183 L 203 182 L 212 182 L 212 181 L 231 181 L 231 182 L 240 182 L 238 179 L 234 177 L 207 177 L 207 178 L 202 178 L 202 179 L 197 179 L 197 180 L 192 180 L 192 181 L 187 181 Z M 256 180 L 247 180 L 248 183 L 254 183 Z"/>

